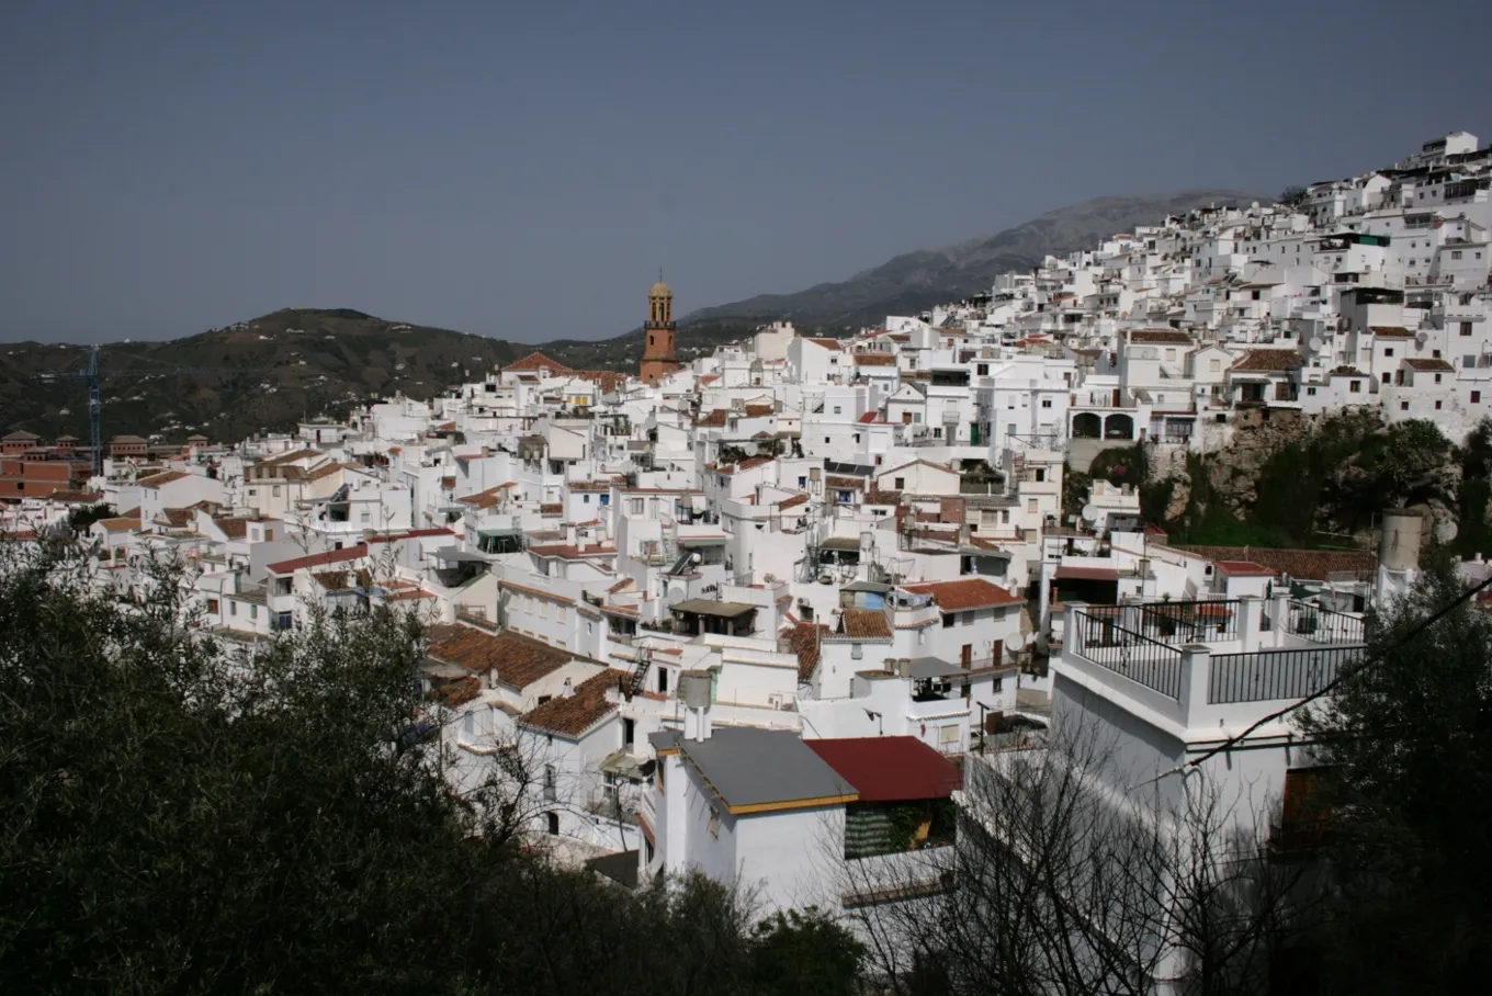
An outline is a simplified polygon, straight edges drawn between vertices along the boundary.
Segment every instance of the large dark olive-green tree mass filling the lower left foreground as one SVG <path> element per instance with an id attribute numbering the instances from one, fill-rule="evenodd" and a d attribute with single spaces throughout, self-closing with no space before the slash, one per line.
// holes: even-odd
<path id="1" fill-rule="evenodd" d="M 415 616 L 312 613 L 237 647 L 188 595 L 172 562 L 0 546 L 0 992 L 853 983 L 852 941 L 813 915 L 756 932 L 709 880 L 628 892 L 557 868 L 522 763 L 457 795 Z"/>

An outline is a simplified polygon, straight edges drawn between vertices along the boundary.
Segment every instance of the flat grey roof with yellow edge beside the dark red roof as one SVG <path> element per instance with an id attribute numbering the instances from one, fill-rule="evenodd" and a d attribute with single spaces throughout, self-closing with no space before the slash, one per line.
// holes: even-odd
<path id="1" fill-rule="evenodd" d="M 855 793 L 792 731 L 721 726 L 707 740 L 676 746 L 731 810 Z"/>

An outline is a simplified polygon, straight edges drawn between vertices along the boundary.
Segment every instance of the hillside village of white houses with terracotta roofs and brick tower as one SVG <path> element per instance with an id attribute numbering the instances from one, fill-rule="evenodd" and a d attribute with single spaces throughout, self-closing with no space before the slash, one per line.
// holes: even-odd
<path id="1" fill-rule="evenodd" d="M 847 860 L 925 857 L 971 768 L 1062 722 L 1134 747 L 1101 778 L 1152 777 L 1323 687 L 1413 583 L 1402 510 L 1374 553 L 1171 544 L 1100 479 L 1064 511 L 1106 449 L 1177 459 L 1349 409 L 1459 443 L 1492 415 L 1492 146 L 1453 133 L 1291 200 L 1116 233 L 849 338 L 777 322 L 682 364 L 659 282 L 637 376 L 534 352 L 294 434 L 118 435 L 97 467 L 12 432 L 0 528 L 107 505 L 82 526 L 100 579 L 176 555 L 233 643 L 318 607 L 421 613 L 452 781 L 540 757 L 533 830 L 561 860 L 883 901 L 824 869 L 825 828 Z M 1303 792 L 1288 734 L 1206 771 Z M 909 807 L 910 841 L 888 829 Z"/>

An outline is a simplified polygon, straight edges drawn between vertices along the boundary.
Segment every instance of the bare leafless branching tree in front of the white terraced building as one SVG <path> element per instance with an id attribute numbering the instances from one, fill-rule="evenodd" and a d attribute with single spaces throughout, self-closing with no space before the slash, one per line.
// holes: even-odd
<path id="1" fill-rule="evenodd" d="M 876 977 L 918 996 L 1264 989 L 1300 869 L 1268 860 L 1246 807 L 1200 772 L 1097 792 L 1097 729 L 1009 747 L 965 760 L 956 847 L 844 862 L 847 889 L 903 896 L 859 910 Z"/>

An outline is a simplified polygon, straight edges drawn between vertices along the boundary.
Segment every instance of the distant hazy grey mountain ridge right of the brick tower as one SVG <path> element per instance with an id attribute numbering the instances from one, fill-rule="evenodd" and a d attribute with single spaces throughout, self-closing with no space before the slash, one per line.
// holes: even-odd
<path id="1" fill-rule="evenodd" d="M 886 315 L 916 315 L 934 304 L 988 291 L 1003 273 L 1035 267 L 1047 255 L 1088 249 L 1100 239 L 1153 225 L 1209 204 L 1268 201 L 1229 189 L 1189 189 L 1140 197 L 1097 197 L 1059 207 L 988 239 L 943 249 L 918 249 L 862 270 L 847 280 L 795 294 L 759 294 L 700 309 L 683 325 L 722 319 L 782 319 L 812 325 L 870 325 Z"/>

